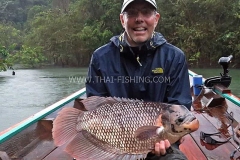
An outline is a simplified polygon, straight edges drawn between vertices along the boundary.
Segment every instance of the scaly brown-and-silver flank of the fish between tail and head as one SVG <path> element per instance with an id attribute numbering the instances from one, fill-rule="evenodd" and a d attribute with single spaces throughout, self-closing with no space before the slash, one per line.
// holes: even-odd
<path id="1" fill-rule="evenodd" d="M 128 113 L 122 109 L 123 106 L 128 108 Z M 99 140 L 125 152 L 147 153 L 149 149 L 146 147 L 149 142 L 152 142 L 150 144 L 153 146 L 157 137 L 139 141 L 134 137 L 134 131 L 142 125 L 154 125 L 160 110 L 151 103 L 142 102 L 134 104 L 118 102 L 112 106 L 103 105 L 92 112 L 84 114 L 82 129 L 95 135 Z M 125 114 L 123 114 L 123 111 Z M 131 123 L 132 121 L 134 123 Z"/>

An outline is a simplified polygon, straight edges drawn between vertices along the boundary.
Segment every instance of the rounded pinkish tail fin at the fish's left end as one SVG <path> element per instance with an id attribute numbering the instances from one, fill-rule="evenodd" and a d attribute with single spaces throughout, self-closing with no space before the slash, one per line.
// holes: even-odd
<path id="1" fill-rule="evenodd" d="M 81 131 L 81 128 L 77 128 L 79 116 L 83 116 L 83 111 L 76 108 L 63 108 L 58 113 L 58 116 L 53 121 L 52 129 L 52 136 L 56 146 L 61 146 L 72 140 Z"/>

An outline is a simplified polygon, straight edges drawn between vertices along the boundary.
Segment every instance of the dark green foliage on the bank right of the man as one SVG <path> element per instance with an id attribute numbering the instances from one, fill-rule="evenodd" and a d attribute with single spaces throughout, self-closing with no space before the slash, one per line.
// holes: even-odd
<path id="1" fill-rule="evenodd" d="M 240 58 L 239 1 L 162 0 L 159 6 L 158 30 L 186 53 L 189 64 L 214 66 L 221 56 Z"/>

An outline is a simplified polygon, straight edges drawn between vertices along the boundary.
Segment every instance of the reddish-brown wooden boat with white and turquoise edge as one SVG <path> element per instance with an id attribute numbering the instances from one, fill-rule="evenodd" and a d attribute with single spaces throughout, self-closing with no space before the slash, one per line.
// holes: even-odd
<path id="1" fill-rule="evenodd" d="M 195 75 L 196 73 L 189 71 L 191 84 Z M 59 110 L 63 107 L 77 107 L 74 102 L 83 98 L 85 88 L 0 132 L 0 159 L 72 160 L 73 158 L 63 151 L 65 146 L 56 147 L 53 144 L 52 122 Z M 199 96 L 193 95 L 192 112 L 200 121 L 200 127 L 183 137 L 180 150 L 189 160 L 231 159 L 230 155 L 233 151 L 236 152 L 239 145 L 238 137 L 231 136 L 235 133 L 232 128 L 237 127 L 240 122 L 240 98 L 234 96 L 228 88 L 216 83 L 211 89 L 202 90 Z M 233 113 L 232 120 L 229 120 L 227 113 Z M 223 144 L 208 144 L 200 139 L 201 131 L 221 132 L 219 141 L 231 139 Z M 239 159 L 240 152 L 237 151 L 234 158 Z"/>

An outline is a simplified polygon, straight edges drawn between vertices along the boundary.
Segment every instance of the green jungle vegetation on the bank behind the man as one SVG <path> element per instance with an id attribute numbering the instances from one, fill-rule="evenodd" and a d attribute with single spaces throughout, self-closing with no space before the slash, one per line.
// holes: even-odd
<path id="1" fill-rule="evenodd" d="M 123 0 L 0 0 L 0 71 L 21 63 L 87 66 L 92 52 L 123 29 Z M 192 67 L 233 55 L 240 67 L 239 0 L 157 0 L 156 31 L 181 48 Z"/>

